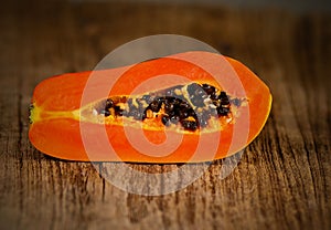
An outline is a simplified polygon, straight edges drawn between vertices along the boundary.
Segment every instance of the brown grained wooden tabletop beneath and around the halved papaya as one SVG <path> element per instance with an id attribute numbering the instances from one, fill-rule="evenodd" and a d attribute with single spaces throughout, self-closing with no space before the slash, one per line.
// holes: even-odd
<path id="1" fill-rule="evenodd" d="M 93 1 L 8 1 L 0 11 L 0 229 L 331 228 L 330 15 Z M 185 189 L 139 196 L 89 163 L 31 146 L 28 107 L 40 81 L 92 70 L 118 45 L 158 33 L 206 42 L 271 88 L 270 117 L 228 177 L 216 160 Z"/>

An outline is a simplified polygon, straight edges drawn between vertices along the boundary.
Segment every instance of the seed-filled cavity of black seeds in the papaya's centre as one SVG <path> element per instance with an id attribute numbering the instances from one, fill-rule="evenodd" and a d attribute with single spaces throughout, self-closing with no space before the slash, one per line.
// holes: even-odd
<path id="1" fill-rule="evenodd" d="M 92 113 L 135 121 L 156 119 L 167 127 L 180 125 L 184 130 L 195 132 L 207 127 L 212 118 L 232 122 L 232 107 L 242 106 L 243 101 L 231 98 L 213 85 L 192 83 L 135 97 L 107 98 L 96 104 Z"/>

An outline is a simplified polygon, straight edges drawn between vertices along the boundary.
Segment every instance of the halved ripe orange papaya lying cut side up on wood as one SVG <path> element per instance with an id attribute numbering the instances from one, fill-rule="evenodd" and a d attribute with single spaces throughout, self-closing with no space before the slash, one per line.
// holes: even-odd
<path id="1" fill-rule="evenodd" d="M 42 81 L 29 138 L 66 160 L 211 161 L 252 143 L 270 107 L 268 86 L 244 64 L 192 51 Z"/>

